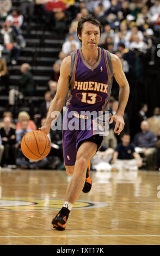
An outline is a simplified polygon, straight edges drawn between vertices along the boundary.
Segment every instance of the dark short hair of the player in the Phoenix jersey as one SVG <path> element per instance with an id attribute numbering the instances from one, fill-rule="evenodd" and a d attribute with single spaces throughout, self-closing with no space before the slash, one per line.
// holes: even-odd
<path id="1" fill-rule="evenodd" d="M 97 27 L 99 27 L 100 29 L 100 35 L 101 35 L 101 29 L 103 28 L 100 21 L 95 19 L 91 14 L 85 16 L 85 17 L 82 17 L 81 20 L 78 22 L 78 27 L 77 27 L 77 35 L 80 35 L 81 36 L 81 33 L 82 33 L 82 29 L 83 29 L 83 23 L 84 22 L 89 22 Z M 79 37 L 78 37 L 79 39 Z M 80 42 L 82 42 L 81 39 L 79 39 Z"/>

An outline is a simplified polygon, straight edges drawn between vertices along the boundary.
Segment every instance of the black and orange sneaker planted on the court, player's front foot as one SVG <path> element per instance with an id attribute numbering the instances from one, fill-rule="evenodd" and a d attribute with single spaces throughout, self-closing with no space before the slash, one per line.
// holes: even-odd
<path id="1" fill-rule="evenodd" d="M 64 230 L 66 227 L 66 222 L 69 217 L 70 210 L 66 207 L 61 208 L 55 218 L 53 218 L 52 224 L 53 228 L 58 230 Z"/>

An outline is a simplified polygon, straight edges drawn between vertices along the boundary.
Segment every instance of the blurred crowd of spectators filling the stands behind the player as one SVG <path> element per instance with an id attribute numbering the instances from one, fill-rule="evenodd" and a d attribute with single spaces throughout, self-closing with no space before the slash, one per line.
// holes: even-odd
<path id="1" fill-rule="evenodd" d="M 0 0 L 0 6 L 3 2 L 4 0 Z M 42 164 L 42 168 L 47 166 L 56 168 L 53 164 L 54 161 L 51 161 L 51 154 L 43 163 L 33 163 L 32 165 L 32 163 L 24 164 L 23 162 L 22 164 L 21 161 L 17 161 L 17 158 L 24 158 L 19 154 L 20 137 L 22 138 L 24 131 L 38 129 L 41 122 L 45 120 L 48 107 L 56 93 L 61 61 L 72 51 L 81 47 L 81 42 L 79 42 L 76 33 L 77 24 L 81 17 L 93 14 L 103 25 L 99 46 L 120 58 L 122 69 L 131 89 L 128 103 L 130 111 L 126 110 L 124 115 L 124 132 L 122 132 L 121 137 L 118 137 L 114 133 L 114 124 L 110 125 L 109 136 L 104 140 L 101 151 L 93 157 L 93 169 L 119 170 L 128 166 L 128 169 L 145 167 L 146 169 L 158 170 L 160 168 L 159 103 L 155 99 L 155 102 L 152 102 L 152 108 L 148 109 L 147 102 L 143 103 L 144 94 L 146 94 L 146 92 L 144 93 L 144 86 L 140 87 L 139 85 L 147 80 L 149 70 L 158 70 L 156 58 L 160 36 L 160 0 L 20 0 L 19 10 L 11 9 L 10 0 L 5 0 L 5 2 L 5 7 L 0 7 L 0 15 L 6 17 L 0 33 L 0 44 L 2 45 L 2 51 L 3 48 L 6 48 L 10 52 L 9 62 L 11 65 L 17 63 L 21 48 L 26 45 L 22 36 L 23 24 L 27 19 L 27 29 L 29 31 L 29 24 L 32 21 L 35 9 L 41 14 L 40 21 L 44 21 L 45 28 L 50 31 L 54 29 L 58 33 L 65 33 L 66 38 L 58 59 L 53 63 L 52 76 L 47 83 L 48 89 L 45 93 L 45 101 L 42 102 L 37 111 L 34 111 L 31 117 L 32 120 L 27 117 L 27 121 L 19 120 L 17 124 L 14 124 L 12 123 L 11 113 L 9 117 L 3 117 L 3 127 L 0 131 L 1 166 L 14 164 L 21 168 L 32 169 L 39 168 L 38 164 Z M 17 91 L 13 89 L 9 92 L 7 63 L 0 59 L 1 86 L 3 84 L 9 94 L 10 105 L 14 105 L 15 94 L 22 95 L 23 99 L 34 95 L 32 66 L 23 63 L 21 73 L 19 89 Z M 152 78 L 150 78 L 151 81 Z M 147 90 L 147 88 L 149 87 L 146 86 L 145 89 Z M 109 110 L 112 114 L 118 108 L 118 92 L 119 87 L 114 80 L 112 97 L 109 102 Z M 132 102 L 132 107 L 130 102 Z M 134 107 L 135 109 L 132 109 Z M 52 150 L 54 150 L 54 155 L 57 157 L 57 166 L 63 166 L 61 134 L 53 132 L 50 136 L 54 146 Z M 9 146 L 7 146 L 8 144 Z M 12 160 L 9 157 L 10 150 L 14 152 Z M 100 159 L 101 164 L 99 163 Z M 25 159 L 25 161 L 28 160 Z M 106 167 L 104 168 L 104 166 Z"/>

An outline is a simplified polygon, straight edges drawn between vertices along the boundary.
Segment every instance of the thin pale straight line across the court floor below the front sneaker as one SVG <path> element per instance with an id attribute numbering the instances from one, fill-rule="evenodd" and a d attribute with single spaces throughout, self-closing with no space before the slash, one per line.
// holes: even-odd
<path id="1" fill-rule="evenodd" d="M 22 235 L 22 236 L 0 236 L 1 237 L 160 237 L 160 235 Z"/>

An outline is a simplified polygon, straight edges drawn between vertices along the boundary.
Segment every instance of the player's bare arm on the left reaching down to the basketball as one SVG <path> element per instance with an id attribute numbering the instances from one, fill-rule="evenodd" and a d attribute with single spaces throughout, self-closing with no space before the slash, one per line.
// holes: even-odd
<path id="1" fill-rule="evenodd" d="M 61 63 L 60 76 L 57 83 L 57 92 L 48 110 L 45 125 L 39 128 L 40 131 L 44 131 L 46 134 L 48 134 L 51 129 L 51 122 L 57 118 L 57 115 L 54 118 L 51 117 L 52 112 L 58 111 L 60 113 L 61 109 L 64 106 L 66 94 L 69 89 L 70 68 L 71 68 L 71 57 L 68 56 Z"/>

